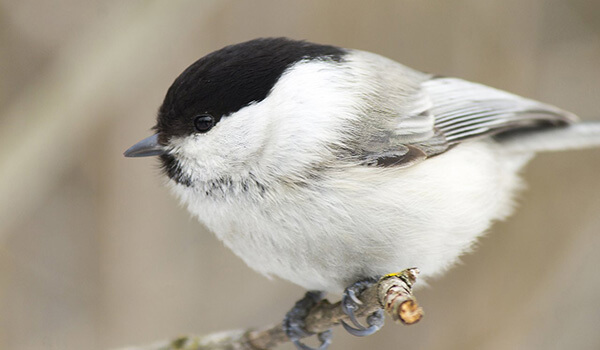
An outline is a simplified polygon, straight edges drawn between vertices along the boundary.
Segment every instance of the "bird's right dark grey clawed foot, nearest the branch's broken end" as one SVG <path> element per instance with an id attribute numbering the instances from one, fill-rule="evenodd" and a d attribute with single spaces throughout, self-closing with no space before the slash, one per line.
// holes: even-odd
<path id="1" fill-rule="evenodd" d="M 373 284 L 376 284 L 378 280 L 378 278 L 367 278 L 354 283 L 344 290 L 344 294 L 342 296 L 342 310 L 346 315 L 348 315 L 348 317 L 350 317 L 350 321 L 354 325 L 354 327 L 352 327 L 351 325 L 342 321 L 342 326 L 344 326 L 344 329 L 346 329 L 348 333 L 358 337 L 364 337 L 377 332 L 381 327 L 383 327 L 383 309 L 379 309 L 367 317 L 367 327 L 358 322 L 356 315 L 354 315 L 354 311 L 362 304 L 362 302 L 358 299 L 360 293 Z"/>

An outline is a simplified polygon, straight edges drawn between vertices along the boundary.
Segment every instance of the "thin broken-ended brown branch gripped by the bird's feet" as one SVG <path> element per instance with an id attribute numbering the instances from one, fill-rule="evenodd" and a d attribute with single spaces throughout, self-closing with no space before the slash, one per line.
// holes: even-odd
<path id="1" fill-rule="evenodd" d="M 383 308 L 394 321 L 406 325 L 418 322 L 423 316 L 423 310 L 412 295 L 412 286 L 416 282 L 418 273 L 418 269 L 411 268 L 379 279 L 377 284 L 360 295 L 363 304 L 356 311 L 356 315 L 367 316 Z M 327 300 L 321 301 L 306 317 L 306 329 L 311 333 L 320 333 L 339 325 L 341 320 L 348 321 L 340 305 L 341 302 L 331 304 Z M 184 336 L 122 350 L 266 350 L 289 341 L 282 324 L 276 324 L 260 330 Z"/>

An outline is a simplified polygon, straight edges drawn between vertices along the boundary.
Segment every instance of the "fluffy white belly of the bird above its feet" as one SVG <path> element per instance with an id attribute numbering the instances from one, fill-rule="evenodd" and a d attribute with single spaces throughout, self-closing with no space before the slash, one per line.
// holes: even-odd
<path id="1" fill-rule="evenodd" d="M 258 203 L 175 190 L 250 267 L 340 292 L 408 267 L 423 277 L 449 268 L 493 220 L 510 214 L 517 172 L 529 158 L 475 141 L 406 169 L 344 169 L 317 188 L 279 189 Z"/>

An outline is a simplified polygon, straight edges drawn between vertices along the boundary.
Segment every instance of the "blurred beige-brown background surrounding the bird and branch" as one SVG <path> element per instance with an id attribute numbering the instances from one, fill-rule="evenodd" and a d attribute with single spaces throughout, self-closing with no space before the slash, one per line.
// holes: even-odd
<path id="1" fill-rule="evenodd" d="M 600 119 L 597 0 L 0 0 L 0 349 L 263 326 L 302 296 L 191 219 L 156 160 L 122 156 L 185 67 L 261 36 L 369 50 Z M 599 349 L 599 171 L 600 150 L 540 155 L 520 210 L 417 291 L 419 324 L 337 329 L 332 349 Z"/>

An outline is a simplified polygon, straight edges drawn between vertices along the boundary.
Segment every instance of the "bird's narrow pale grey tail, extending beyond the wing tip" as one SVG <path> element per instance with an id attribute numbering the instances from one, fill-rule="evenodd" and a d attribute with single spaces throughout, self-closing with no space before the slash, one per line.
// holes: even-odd
<path id="1" fill-rule="evenodd" d="M 600 147 L 600 122 L 583 122 L 563 127 L 522 130 L 498 137 L 514 152 L 546 152 Z"/>

